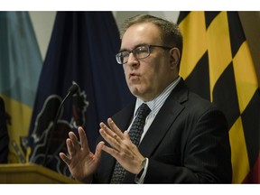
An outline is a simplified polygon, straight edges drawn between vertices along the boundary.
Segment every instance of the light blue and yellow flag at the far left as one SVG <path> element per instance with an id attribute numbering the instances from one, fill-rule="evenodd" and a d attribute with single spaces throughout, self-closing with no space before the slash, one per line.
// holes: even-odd
<path id="1" fill-rule="evenodd" d="M 0 12 L 0 96 L 10 136 L 9 163 L 25 162 L 42 57 L 28 12 Z"/>

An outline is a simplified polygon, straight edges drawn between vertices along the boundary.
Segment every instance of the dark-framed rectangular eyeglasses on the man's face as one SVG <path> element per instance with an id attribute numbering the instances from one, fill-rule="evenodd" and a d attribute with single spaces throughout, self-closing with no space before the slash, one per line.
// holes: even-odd
<path id="1" fill-rule="evenodd" d="M 165 46 L 160 46 L 160 45 L 142 45 L 142 46 L 135 48 L 132 51 L 121 51 L 121 52 L 117 53 L 116 61 L 118 64 L 125 64 L 128 61 L 130 53 L 133 53 L 133 55 L 135 56 L 135 58 L 137 60 L 147 58 L 148 56 L 150 56 L 152 47 L 159 47 L 159 48 L 163 48 L 164 50 L 172 49 L 170 47 L 165 47 Z"/>

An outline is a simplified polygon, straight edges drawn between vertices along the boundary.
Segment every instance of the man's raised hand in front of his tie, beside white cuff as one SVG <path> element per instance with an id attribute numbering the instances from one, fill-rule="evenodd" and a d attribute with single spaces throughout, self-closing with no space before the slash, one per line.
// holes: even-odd
<path id="1" fill-rule="evenodd" d="M 99 132 L 111 147 L 103 144 L 102 150 L 116 158 L 116 161 L 128 172 L 139 173 L 142 169 L 141 163 L 144 156 L 139 152 L 137 146 L 132 143 L 127 131 L 123 134 L 111 118 L 107 119 L 107 124 L 110 128 L 104 123 L 100 123 L 101 129 Z"/>

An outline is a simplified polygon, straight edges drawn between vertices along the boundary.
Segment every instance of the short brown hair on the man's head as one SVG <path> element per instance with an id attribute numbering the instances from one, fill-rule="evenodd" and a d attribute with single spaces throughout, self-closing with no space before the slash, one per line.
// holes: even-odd
<path id="1" fill-rule="evenodd" d="M 161 30 L 161 39 L 163 46 L 176 47 L 182 53 L 182 34 L 179 26 L 162 18 L 149 14 L 138 14 L 125 20 L 121 27 L 121 38 L 125 31 L 135 23 L 153 23 Z"/>

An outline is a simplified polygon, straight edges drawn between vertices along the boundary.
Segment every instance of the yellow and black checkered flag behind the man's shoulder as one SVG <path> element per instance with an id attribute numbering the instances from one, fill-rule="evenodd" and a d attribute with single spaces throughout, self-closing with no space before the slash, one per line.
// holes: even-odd
<path id="1" fill-rule="evenodd" d="M 181 12 L 180 75 L 228 118 L 233 183 L 260 183 L 260 93 L 237 12 Z"/>

